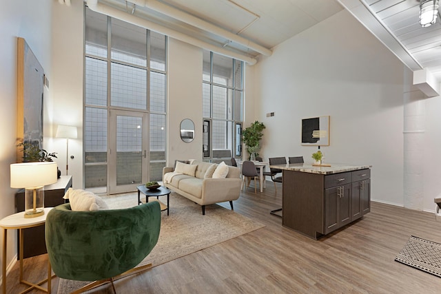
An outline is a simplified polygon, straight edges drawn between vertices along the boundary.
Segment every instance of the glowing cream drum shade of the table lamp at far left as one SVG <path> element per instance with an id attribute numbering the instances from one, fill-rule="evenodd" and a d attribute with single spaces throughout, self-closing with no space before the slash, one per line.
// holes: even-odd
<path id="1" fill-rule="evenodd" d="M 57 162 L 23 162 L 10 165 L 11 188 L 41 187 L 57 182 Z"/>

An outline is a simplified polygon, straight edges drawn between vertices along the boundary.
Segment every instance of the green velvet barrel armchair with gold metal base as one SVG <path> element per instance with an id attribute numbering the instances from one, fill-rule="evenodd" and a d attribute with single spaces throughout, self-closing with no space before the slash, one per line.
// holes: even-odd
<path id="1" fill-rule="evenodd" d="M 58 277 L 96 281 L 85 291 L 151 266 L 135 268 L 158 242 L 160 229 L 158 202 L 99 211 L 72 211 L 61 204 L 46 217 L 45 240 Z"/>

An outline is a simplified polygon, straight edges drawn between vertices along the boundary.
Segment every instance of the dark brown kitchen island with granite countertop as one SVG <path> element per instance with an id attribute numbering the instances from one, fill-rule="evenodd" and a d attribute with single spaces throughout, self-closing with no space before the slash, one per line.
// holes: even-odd
<path id="1" fill-rule="evenodd" d="M 284 227 L 317 240 L 371 209 L 371 166 L 270 165 L 283 170 Z"/>

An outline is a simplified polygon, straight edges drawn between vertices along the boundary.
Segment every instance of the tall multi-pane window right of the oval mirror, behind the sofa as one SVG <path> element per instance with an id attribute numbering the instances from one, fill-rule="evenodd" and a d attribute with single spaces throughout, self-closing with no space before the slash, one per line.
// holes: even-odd
<path id="1" fill-rule="evenodd" d="M 204 50 L 204 160 L 242 156 L 243 96 L 243 62 Z"/>

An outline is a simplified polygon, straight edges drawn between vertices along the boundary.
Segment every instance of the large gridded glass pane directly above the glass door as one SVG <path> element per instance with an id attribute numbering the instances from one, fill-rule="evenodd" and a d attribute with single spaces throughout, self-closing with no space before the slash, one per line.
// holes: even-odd
<path id="1" fill-rule="evenodd" d="M 112 63 L 111 105 L 147 109 L 147 70 Z"/>

